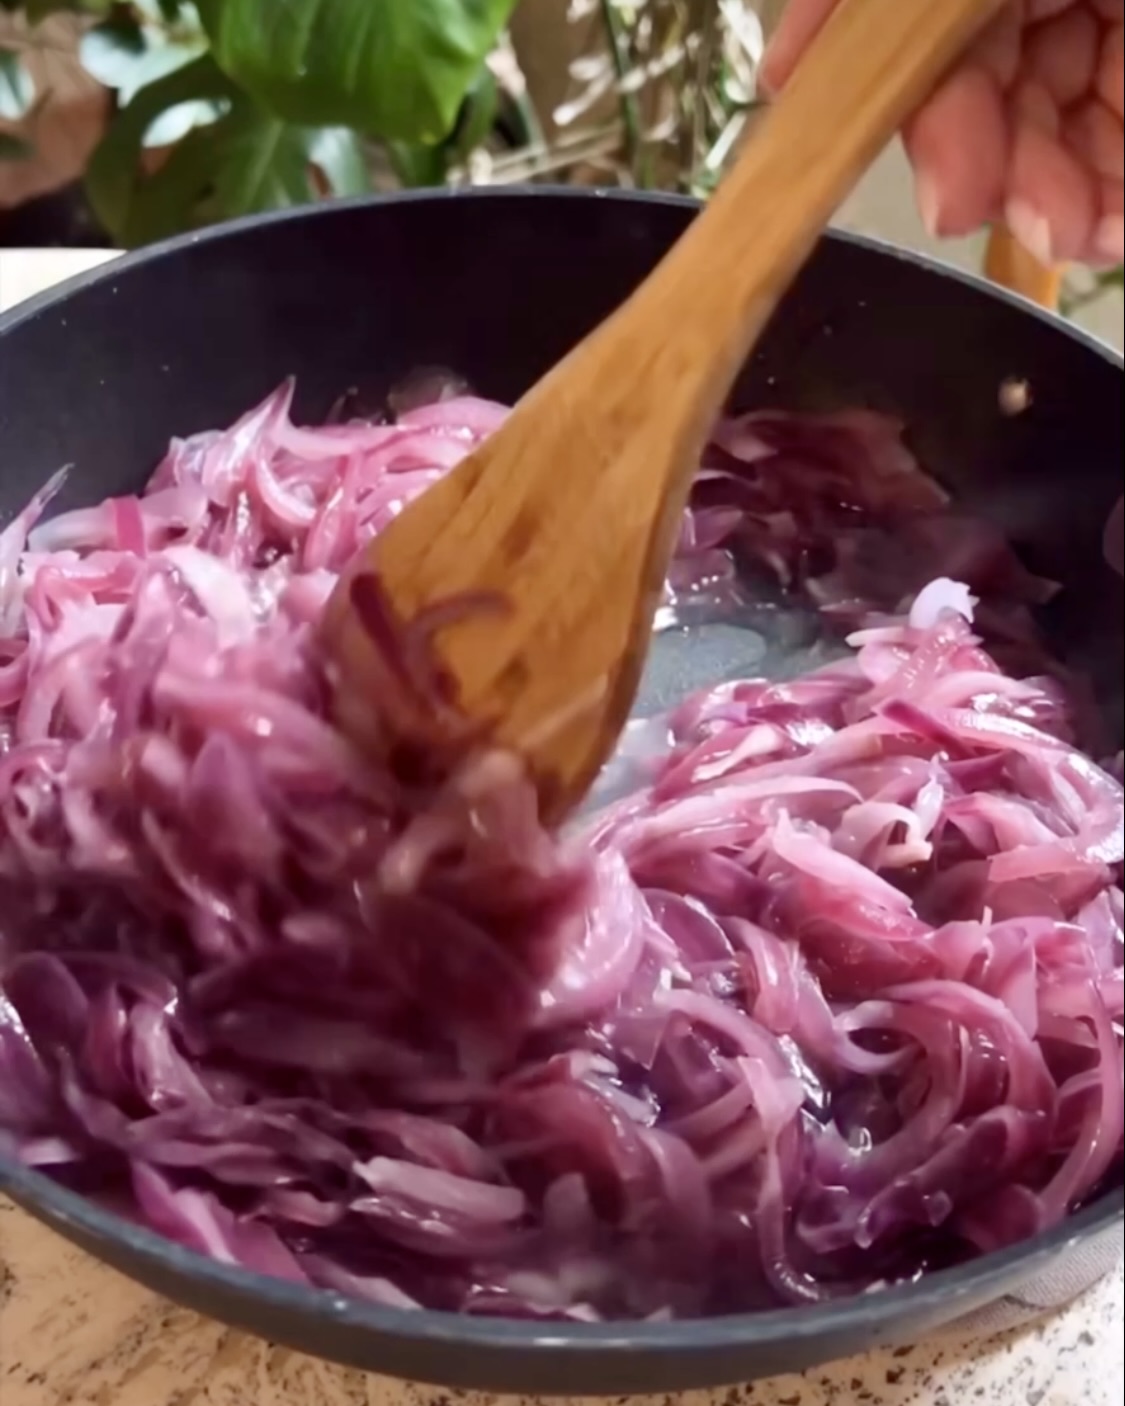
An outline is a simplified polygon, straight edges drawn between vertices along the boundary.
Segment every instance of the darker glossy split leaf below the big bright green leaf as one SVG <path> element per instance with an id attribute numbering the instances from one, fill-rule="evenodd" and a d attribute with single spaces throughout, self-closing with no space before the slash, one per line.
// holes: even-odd
<path id="1" fill-rule="evenodd" d="M 222 115 L 190 131 L 145 174 L 145 134 L 191 101 L 221 103 Z M 94 212 L 129 247 L 215 219 L 368 187 L 352 132 L 281 121 L 239 93 L 210 58 L 141 89 L 111 124 L 87 173 Z"/>

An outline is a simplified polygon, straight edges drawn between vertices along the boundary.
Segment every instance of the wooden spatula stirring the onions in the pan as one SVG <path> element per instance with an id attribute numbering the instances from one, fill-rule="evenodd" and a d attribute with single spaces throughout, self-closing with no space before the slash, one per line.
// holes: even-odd
<path id="1" fill-rule="evenodd" d="M 734 377 L 840 201 L 1001 3 L 844 0 L 651 277 L 342 578 L 323 643 L 356 741 L 440 741 L 373 647 L 390 603 L 444 621 L 433 647 L 457 711 L 526 759 L 546 817 L 582 799 L 629 716 Z M 924 356 L 903 308 L 904 356 L 914 336 Z"/>

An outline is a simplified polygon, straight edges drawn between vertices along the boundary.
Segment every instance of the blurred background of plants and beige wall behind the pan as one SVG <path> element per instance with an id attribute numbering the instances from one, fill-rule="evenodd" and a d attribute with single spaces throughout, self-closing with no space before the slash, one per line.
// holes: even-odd
<path id="1" fill-rule="evenodd" d="M 436 184 L 706 197 L 785 0 L 0 0 L 0 246 Z M 837 224 L 928 242 L 897 149 Z M 980 267 L 983 238 L 942 257 Z M 1122 343 L 1121 270 L 1066 311 Z"/>

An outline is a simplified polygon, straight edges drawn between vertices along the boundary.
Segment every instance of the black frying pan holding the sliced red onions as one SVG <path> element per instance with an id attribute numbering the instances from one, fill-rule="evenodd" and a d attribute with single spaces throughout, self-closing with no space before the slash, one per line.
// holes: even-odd
<path id="1" fill-rule="evenodd" d="M 0 318 L 0 513 L 60 464 L 75 465 L 62 506 L 132 492 L 173 434 L 231 423 L 294 373 L 308 420 L 345 391 L 375 406 L 404 373 L 436 364 L 512 401 L 624 298 L 693 208 L 544 188 L 411 194 L 243 221 L 86 274 Z M 1065 585 L 1042 624 L 1093 682 L 1121 745 L 1122 591 L 1104 551 L 1125 458 L 1119 356 L 973 278 L 834 235 L 734 404 L 899 416 L 959 502 Z M 1114 530 L 1119 560 L 1119 516 Z M 664 648 L 667 688 L 709 682 L 693 657 L 676 658 L 675 640 Z M 1118 1184 L 1056 1230 L 890 1292 L 585 1326 L 402 1313 L 267 1281 L 117 1219 L 1 1147 L 0 1189 L 135 1279 L 277 1343 L 416 1381 L 543 1395 L 724 1385 L 913 1341 L 1067 1257 L 1101 1249 L 1112 1263 L 1125 1199 Z"/>

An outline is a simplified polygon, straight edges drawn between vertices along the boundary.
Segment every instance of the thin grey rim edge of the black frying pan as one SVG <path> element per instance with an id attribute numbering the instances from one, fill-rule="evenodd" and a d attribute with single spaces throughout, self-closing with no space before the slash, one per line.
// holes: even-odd
<path id="1" fill-rule="evenodd" d="M 132 270 L 174 257 L 201 243 L 236 239 L 252 231 L 298 222 L 346 217 L 373 205 L 440 204 L 446 201 L 613 201 L 622 205 L 667 205 L 678 209 L 698 209 L 700 202 L 683 195 L 648 191 L 591 190 L 557 186 L 495 187 L 488 190 L 420 190 L 401 191 L 378 197 L 326 201 L 297 209 L 250 215 L 211 229 L 179 235 L 145 249 L 122 254 L 108 263 L 84 270 L 60 284 L 17 304 L 0 314 L 0 337 L 58 305 L 69 302 L 86 288 L 111 284 Z M 834 243 L 848 245 L 883 257 L 906 262 L 953 278 L 979 294 L 1007 304 L 1024 315 L 1052 326 L 1056 333 L 1084 346 L 1104 363 L 1125 370 L 1125 359 L 1112 346 L 1091 333 L 1066 322 L 1056 314 L 1028 302 L 1017 294 L 989 284 L 977 274 L 955 269 L 927 254 L 906 250 L 880 239 L 849 232 L 831 231 Z M 76 1192 L 68 1191 L 49 1177 L 15 1163 L 3 1149 L 0 1139 L 0 1194 L 10 1197 L 24 1211 L 51 1226 L 68 1240 L 89 1249 L 118 1244 L 134 1265 L 156 1271 L 156 1277 L 187 1279 L 195 1289 L 212 1291 L 218 1298 L 239 1299 L 255 1308 L 284 1315 L 288 1320 L 302 1319 L 308 1324 L 333 1326 L 342 1330 L 364 1331 L 373 1340 L 395 1340 L 416 1350 L 461 1348 L 484 1354 L 509 1355 L 539 1350 L 551 1355 L 578 1358 L 606 1354 L 624 1357 L 643 1353 L 652 1358 L 705 1357 L 723 1350 L 761 1348 L 792 1344 L 824 1336 L 852 1333 L 856 1339 L 876 1331 L 893 1302 L 896 1316 L 922 1317 L 927 1313 L 944 1319 L 956 1317 L 949 1312 L 952 1299 L 987 1298 L 989 1289 L 1001 1289 L 1017 1270 L 1034 1271 L 1084 1239 L 1125 1223 L 1125 1185 L 1118 1185 L 1091 1205 L 1069 1216 L 1059 1226 L 1031 1240 L 1001 1251 L 993 1251 L 951 1270 L 937 1270 L 907 1285 L 859 1295 L 823 1305 L 768 1309 L 757 1313 L 737 1313 L 717 1317 L 682 1319 L 674 1322 L 529 1322 L 519 1319 L 472 1317 L 432 1309 L 399 1309 L 347 1299 L 328 1289 L 291 1284 L 221 1264 L 122 1216 L 98 1206 Z M 98 1253 L 94 1250 L 94 1253 Z M 134 1270 L 128 1271 L 135 1275 Z"/>

